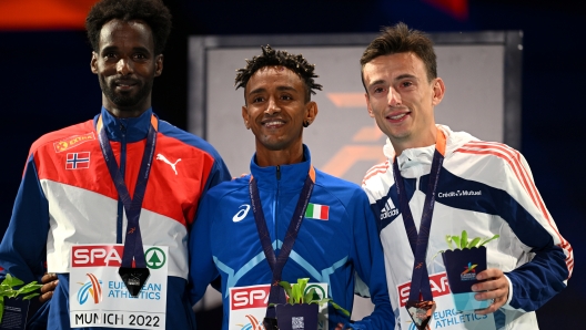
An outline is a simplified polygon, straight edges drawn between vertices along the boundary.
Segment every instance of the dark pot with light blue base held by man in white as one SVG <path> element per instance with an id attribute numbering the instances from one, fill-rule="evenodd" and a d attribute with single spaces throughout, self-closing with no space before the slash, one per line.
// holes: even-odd
<path id="1" fill-rule="evenodd" d="M 479 282 L 476 275 L 486 270 L 486 248 L 484 246 L 469 249 L 455 249 L 442 252 L 447 274 L 449 290 L 454 297 L 456 310 L 475 310 L 487 308 L 488 300 L 478 301 L 472 286 Z"/>

